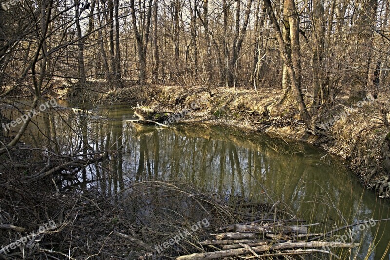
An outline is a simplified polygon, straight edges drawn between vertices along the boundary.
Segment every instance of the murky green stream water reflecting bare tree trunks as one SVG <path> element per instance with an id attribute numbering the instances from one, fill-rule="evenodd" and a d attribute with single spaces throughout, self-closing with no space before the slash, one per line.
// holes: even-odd
<path id="1" fill-rule="evenodd" d="M 59 104 L 69 106 L 60 100 Z M 390 217 L 389 201 L 365 191 L 342 161 L 310 145 L 226 127 L 176 125 L 176 129 L 156 129 L 135 125 L 121 121 L 133 117 L 130 107 L 123 105 L 97 106 L 94 111 L 113 120 L 68 116 L 72 114 L 69 110 L 57 111 L 62 118 L 41 113 L 36 119 L 41 131 L 31 125 L 26 133 L 25 142 L 56 153 L 74 154 L 85 144 L 89 148 L 84 151 L 114 151 L 109 162 L 89 166 L 80 174 L 79 182 L 65 182 L 64 186 L 115 194 L 139 181 L 175 179 L 226 199 L 233 194 L 247 201 L 267 201 L 264 187 L 297 217 L 322 223 L 328 231 L 371 217 Z M 118 148 L 123 154 L 116 154 Z M 370 246 L 375 249 L 367 259 L 390 259 L 390 223 L 352 230 L 357 233 L 354 240 L 361 242 L 359 249 L 352 251 L 355 259 L 365 259 Z M 319 230 L 313 227 L 310 232 Z M 333 241 L 346 232 L 337 234 Z"/>

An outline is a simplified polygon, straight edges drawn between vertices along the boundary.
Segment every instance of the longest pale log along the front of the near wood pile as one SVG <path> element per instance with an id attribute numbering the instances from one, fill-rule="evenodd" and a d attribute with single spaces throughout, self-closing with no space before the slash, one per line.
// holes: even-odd
<path id="1" fill-rule="evenodd" d="M 313 247 L 323 247 L 330 246 L 332 247 L 347 247 L 353 248 L 359 246 L 359 243 L 342 243 L 342 242 L 326 242 L 326 241 L 314 241 L 314 242 L 299 242 L 299 243 L 279 243 L 273 245 L 261 245 L 252 247 L 252 250 L 256 253 L 271 251 L 271 250 L 280 250 L 286 248 L 313 248 Z M 216 252 L 207 252 L 207 253 L 194 253 L 191 255 L 180 256 L 176 258 L 177 260 L 204 260 L 204 259 L 217 259 L 223 257 L 239 256 L 244 254 L 251 253 L 250 250 L 246 248 L 237 248 L 237 249 L 228 249 Z"/>

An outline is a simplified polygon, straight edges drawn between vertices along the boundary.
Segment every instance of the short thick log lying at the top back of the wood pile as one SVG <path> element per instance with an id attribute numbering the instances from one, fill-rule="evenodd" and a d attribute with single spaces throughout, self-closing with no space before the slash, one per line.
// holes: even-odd
<path id="1" fill-rule="evenodd" d="M 284 227 L 273 227 L 273 226 L 260 226 L 260 225 L 235 225 L 236 232 L 252 232 L 252 233 L 296 233 L 296 234 L 307 234 L 308 228 L 303 226 L 284 226 Z"/>

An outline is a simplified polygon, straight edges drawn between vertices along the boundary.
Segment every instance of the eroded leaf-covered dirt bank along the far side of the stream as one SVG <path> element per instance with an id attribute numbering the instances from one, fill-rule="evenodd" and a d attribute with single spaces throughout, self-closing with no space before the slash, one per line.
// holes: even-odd
<path id="1" fill-rule="evenodd" d="M 119 102 L 132 103 L 129 91 L 111 92 L 103 99 L 113 100 L 114 96 Z M 306 131 L 291 100 L 287 98 L 279 104 L 283 98 L 281 91 L 267 93 L 234 88 L 210 91 L 182 86 L 138 87 L 131 92 L 134 91 L 142 93 L 137 95 L 137 102 L 156 111 L 187 109 L 189 113 L 180 116 L 180 122 L 238 126 L 244 131 L 264 131 L 319 146 L 345 159 L 362 184 L 379 197 L 390 196 L 390 105 L 386 97 L 370 102 L 337 98 L 317 111 L 320 123 L 316 124 L 317 133 L 313 135 Z M 200 105 L 192 109 L 194 102 Z M 333 126 L 332 120 L 336 120 Z"/>

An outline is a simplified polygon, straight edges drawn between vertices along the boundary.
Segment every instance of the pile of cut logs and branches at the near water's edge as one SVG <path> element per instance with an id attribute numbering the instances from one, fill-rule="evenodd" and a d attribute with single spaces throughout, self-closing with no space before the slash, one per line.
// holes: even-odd
<path id="1" fill-rule="evenodd" d="M 353 248 L 359 243 L 327 242 L 319 240 L 324 234 L 311 234 L 308 227 L 298 225 L 301 220 L 256 220 L 219 228 L 210 234 L 215 240 L 200 242 L 200 245 L 214 249 L 214 252 L 195 253 L 180 256 L 177 260 L 220 259 L 225 257 L 265 258 L 285 255 L 325 253 L 339 258 L 325 250 L 331 247 Z M 309 238 L 318 238 L 313 240 Z M 311 241 L 308 241 L 311 240 Z M 253 255 L 244 257 L 244 255 Z"/>

